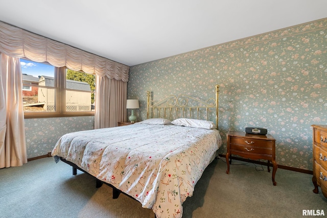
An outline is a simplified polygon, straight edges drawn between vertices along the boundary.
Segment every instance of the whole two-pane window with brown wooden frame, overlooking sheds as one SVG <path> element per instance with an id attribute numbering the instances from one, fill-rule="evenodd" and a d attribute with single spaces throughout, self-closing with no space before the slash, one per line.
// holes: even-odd
<path id="1" fill-rule="evenodd" d="M 94 115 L 95 75 L 20 60 L 25 118 Z"/>

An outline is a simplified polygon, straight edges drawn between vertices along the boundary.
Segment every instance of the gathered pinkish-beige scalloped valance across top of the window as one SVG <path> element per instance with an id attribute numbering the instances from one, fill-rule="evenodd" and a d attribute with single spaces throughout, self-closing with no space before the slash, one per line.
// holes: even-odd
<path id="1" fill-rule="evenodd" d="M 129 66 L 81 49 L 30 33 L 0 21 L 0 52 L 11 57 L 26 57 L 36 62 L 49 62 L 55 67 L 106 76 L 127 83 Z"/>

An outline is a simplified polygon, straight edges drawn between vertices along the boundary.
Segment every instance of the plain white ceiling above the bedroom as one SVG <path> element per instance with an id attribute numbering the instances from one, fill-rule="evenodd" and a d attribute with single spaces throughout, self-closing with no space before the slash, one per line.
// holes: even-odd
<path id="1" fill-rule="evenodd" d="M 133 66 L 327 17 L 326 0 L 2 0 L 0 21 Z"/>

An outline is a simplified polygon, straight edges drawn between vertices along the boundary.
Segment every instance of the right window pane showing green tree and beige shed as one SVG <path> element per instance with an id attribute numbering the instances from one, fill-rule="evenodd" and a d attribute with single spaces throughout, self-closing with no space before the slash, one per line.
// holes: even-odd
<path id="1" fill-rule="evenodd" d="M 66 70 L 66 111 L 94 111 L 95 75 Z"/>

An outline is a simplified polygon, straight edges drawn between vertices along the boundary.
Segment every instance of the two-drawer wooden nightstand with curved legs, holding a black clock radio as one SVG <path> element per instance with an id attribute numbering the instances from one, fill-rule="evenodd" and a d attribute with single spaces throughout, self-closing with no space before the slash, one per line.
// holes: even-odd
<path id="1" fill-rule="evenodd" d="M 248 134 L 242 131 L 228 131 L 226 153 L 227 174 L 229 174 L 229 156 L 232 154 L 254 160 L 268 160 L 268 172 L 270 172 L 269 161 L 271 161 L 272 183 L 273 185 L 277 184 L 275 182 L 275 174 L 277 171 L 277 163 L 275 161 L 275 139 L 271 134 L 259 135 Z"/>

